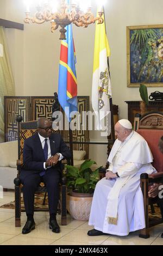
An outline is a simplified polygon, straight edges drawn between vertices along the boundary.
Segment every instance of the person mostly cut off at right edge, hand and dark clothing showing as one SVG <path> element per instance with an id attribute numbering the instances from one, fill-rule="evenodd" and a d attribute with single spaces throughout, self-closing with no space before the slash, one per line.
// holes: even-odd
<path id="1" fill-rule="evenodd" d="M 161 153 L 163 154 L 163 136 L 160 138 L 158 146 L 159 146 Z M 154 183 L 150 187 L 150 190 L 148 191 L 148 197 L 156 197 L 159 195 L 159 192 L 161 192 L 160 194 L 162 197 L 163 192 L 160 191 L 162 189 L 162 185 L 163 185 L 163 179 L 161 179 L 161 183 Z M 159 198 L 158 203 L 159 203 L 162 218 L 163 218 L 163 198 Z M 163 238 L 163 233 L 161 234 L 161 237 Z"/>

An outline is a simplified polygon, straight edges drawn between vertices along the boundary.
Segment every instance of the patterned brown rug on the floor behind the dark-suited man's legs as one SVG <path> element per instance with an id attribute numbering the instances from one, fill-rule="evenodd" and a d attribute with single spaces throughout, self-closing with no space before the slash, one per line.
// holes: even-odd
<path id="1" fill-rule="evenodd" d="M 42 205 L 45 193 L 35 193 L 35 210 L 48 210 L 48 197 L 46 196 L 45 205 Z M 0 206 L 0 208 L 15 209 L 15 201 Z M 21 197 L 21 210 L 24 211 L 24 201 Z"/>

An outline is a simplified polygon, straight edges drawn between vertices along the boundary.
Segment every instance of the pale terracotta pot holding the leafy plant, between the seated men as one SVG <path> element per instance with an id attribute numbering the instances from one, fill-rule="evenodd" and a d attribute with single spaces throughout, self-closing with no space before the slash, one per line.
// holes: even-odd
<path id="1" fill-rule="evenodd" d="M 67 210 L 78 221 L 88 221 L 90 217 L 93 194 L 69 192 Z"/>

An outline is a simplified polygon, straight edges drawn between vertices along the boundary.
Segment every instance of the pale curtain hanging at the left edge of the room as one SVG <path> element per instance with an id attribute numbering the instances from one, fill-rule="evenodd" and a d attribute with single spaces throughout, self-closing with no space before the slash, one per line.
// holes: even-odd
<path id="1" fill-rule="evenodd" d="M 2 46 L 0 56 L 0 135 L 2 135 L 4 133 L 4 96 L 15 95 L 14 80 L 3 27 L 0 27 L 0 44 Z"/>

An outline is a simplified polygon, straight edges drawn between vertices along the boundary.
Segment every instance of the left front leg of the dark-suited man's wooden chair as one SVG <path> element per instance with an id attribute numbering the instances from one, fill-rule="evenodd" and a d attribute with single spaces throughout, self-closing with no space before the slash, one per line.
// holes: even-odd
<path id="1" fill-rule="evenodd" d="M 15 227 L 21 227 L 21 188 L 15 186 Z"/>

